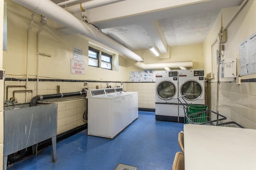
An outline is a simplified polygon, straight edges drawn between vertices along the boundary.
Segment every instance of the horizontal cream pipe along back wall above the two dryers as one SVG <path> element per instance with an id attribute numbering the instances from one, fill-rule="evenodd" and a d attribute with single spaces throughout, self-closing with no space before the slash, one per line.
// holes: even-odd
<path id="1" fill-rule="evenodd" d="M 169 63 L 142 63 L 140 61 L 137 61 L 134 63 L 135 66 L 142 68 L 144 70 L 147 69 L 162 69 L 164 67 L 169 67 L 169 68 L 180 68 L 180 66 L 184 66 L 187 68 L 190 68 L 193 66 L 192 61 L 178 61 L 178 62 L 169 62 Z"/>

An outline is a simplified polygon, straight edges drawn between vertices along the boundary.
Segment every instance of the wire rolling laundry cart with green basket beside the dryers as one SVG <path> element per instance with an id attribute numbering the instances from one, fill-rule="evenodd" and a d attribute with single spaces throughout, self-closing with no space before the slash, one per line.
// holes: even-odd
<path id="1" fill-rule="evenodd" d="M 182 102 L 182 100 L 184 102 Z M 185 123 L 189 124 L 199 124 L 199 125 L 217 125 L 217 120 L 218 124 L 223 123 L 227 117 L 218 114 L 217 113 L 208 109 L 208 106 L 205 105 L 193 105 L 193 104 L 188 104 L 183 96 L 178 97 L 179 104 L 182 104 L 184 113 L 185 113 Z"/>

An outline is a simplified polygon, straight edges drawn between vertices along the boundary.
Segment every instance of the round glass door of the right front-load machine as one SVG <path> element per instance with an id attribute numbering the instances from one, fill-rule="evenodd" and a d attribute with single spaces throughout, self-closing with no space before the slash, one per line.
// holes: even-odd
<path id="1" fill-rule="evenodd" d="M 180 86 L 180 94 L 185 95 L 186 100 L 197 100 L 203 94 L 201 84 L 194 80 L 187 80 Z"/>

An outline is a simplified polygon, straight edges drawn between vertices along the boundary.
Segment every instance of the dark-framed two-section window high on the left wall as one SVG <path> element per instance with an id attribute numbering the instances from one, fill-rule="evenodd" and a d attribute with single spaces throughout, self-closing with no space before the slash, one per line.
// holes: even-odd
<path id="1" fill-rule="evenodd" d="M 89 47 L 89 66 L 112 70 L 112 55 Z"/>

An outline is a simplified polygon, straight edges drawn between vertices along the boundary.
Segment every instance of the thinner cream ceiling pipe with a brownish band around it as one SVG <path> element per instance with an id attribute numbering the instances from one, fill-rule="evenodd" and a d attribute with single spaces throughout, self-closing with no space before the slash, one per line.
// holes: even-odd
<path id="1" fill-rule="evenodd" d="M 85 10 L 90 10 L 92 8 L 97 8 L 97 7 L 108 5 L 108 4 L 114 4 L 116 2 L 121 2 L 121 1 L 124 1 L 124 0 L 90 0 L 88 2 L 83 2 L 81 4 L 68 6 L 64 9 L 74 14 L 78 12 L 84 12 Z"/>

